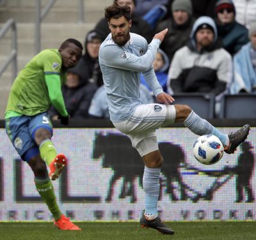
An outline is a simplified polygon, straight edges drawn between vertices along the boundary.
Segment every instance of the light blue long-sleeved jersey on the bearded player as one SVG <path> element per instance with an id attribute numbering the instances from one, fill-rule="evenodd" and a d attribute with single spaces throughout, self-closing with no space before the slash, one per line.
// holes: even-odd
<path id="1" fill-rule="evenodd" d="M 127 119 L 135 107 L 142 104 L 140 73 L 155 96 L 163 93 L 152 66 L 161 41 L 154 39 L 148 45 L 142 36 L 135 33 L 130 36 L 130 40 L 120 47 L 110 33 L 100 45 L 100 69 L 108 95 L 110 119 L 114 123 Z"/>

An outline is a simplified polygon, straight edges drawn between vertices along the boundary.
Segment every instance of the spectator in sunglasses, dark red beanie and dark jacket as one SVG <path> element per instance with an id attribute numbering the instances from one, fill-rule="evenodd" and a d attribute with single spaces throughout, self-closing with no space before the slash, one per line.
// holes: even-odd
<path id="1" fill-rule="evenodd" d="M 223 48 L 232 56 L 248 43 L 248 30 L 236 22 L 236 9 L 231 0 L 220 0 L 215 6 L 216 26 Z"/>

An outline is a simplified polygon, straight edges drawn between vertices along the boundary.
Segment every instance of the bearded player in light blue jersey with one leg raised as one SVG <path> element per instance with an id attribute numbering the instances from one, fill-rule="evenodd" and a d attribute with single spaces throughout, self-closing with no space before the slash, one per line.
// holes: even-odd
<path id="1" fill-rule="evenodd" d="M 108 96 L 110 119 L 118 130 L 131 139 L 132 146 L 145 163 L 145 213 L 140 224 L 141 227 L 151 227 L 163 234 L 174 234 L 157 216 L 163 157 L 158 149 L 156 129 L 182 121 L 196 135 L 216 135 L 225 146 L 225 152 L 230 154 L 246 139 L 250 126 L 246 124 L 226 135 L 199 117 L 188 105 L 170 105 L 175 100 L 163 92 L 152 66 L 168 29 L 157 33 L 148 45 L 145 38 L 129 31 L 132 25 L 129 6 L 112 4 L 105 9 L 105 17 L 111 34 L 100 46 L 99 63 Z M 141 102 L 140 73 L 147 80 L 157 101 L 163 104 Z"/>

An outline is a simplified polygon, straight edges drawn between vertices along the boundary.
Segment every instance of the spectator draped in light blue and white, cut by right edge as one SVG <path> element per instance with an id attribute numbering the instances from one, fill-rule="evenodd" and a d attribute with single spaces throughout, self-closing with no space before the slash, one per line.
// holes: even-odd
<path id="1" fill-rule="evenodd" d="M 249 29 L 250 41 L 234 56 L 234 79 L 230 93 L 256 93 L 256 22 Z"/>

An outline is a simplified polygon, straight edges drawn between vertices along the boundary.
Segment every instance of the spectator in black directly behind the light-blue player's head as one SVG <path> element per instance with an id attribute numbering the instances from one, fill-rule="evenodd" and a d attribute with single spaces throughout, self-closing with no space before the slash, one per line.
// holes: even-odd
<path id="1" fill-rule="evenodd" d="M 131 33 L 137 33 L 143 36 L 148 43 L 152 40 L 154 36 L 154 31 L 152 31 L 150 25 L 147 21 L 143 20 L 140 15 L 138 15 L 136 10 L 136 1 L 135 0 L 114 0 L 114 3 L 118 5 L 128 5 L 131 8 Z M 97 31 L 103 38 L 103 40 L 110 33 L 110 29 L 108 26 L 108 21 L 105 18 L 99 20 L 99 22 L 95 26 L 95 31 Z"/>

